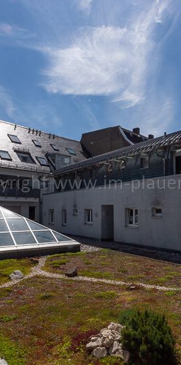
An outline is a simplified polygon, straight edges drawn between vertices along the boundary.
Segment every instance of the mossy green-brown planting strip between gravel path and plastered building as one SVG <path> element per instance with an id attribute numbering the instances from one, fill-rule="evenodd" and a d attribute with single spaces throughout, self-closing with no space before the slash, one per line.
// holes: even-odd
<path id="1" fill-rule="evenodd" d="M 80 275 L 87 277 L 181 287 L 181 265 L 107 249 L 49 256 L 44 268 L 64 273 L 73 265 Z"/>

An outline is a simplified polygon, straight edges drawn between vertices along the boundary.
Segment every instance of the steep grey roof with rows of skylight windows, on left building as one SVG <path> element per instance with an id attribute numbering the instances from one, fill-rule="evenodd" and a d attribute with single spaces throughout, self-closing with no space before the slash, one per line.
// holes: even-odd
<path id="1" fill-rule="evenodd" d="M 21 144 L 12 142 L 8 137 L 8 134 L 17 136 Z M 36 147 L 32 140 L 40 142 L 41 147 Z M 53 147 L 51 147 L 51 144 L 56 144 L 59 151 L 55 151 Z M 76 155 L 71 155 L 67 151 L 67 148 L 73 149 Z M 21 125 L 5 121 L 0 121 L 0 150 L 8 151 L 12 158 L 11 161 L 0 159 L 0 167 L 45 173 L 49 173 L 51 168 L 49 166 L 41 166 L 36 160 L 36 157 L 45 158 L 47 153 L 58 153 L 60 155 L 69 156 L 73 163 L 86 158 L 84 156 L 84 151 L 82 150 L 82 145 L 76 140 L 54 136 L 53 134 L 48 134 L 43 131 L 38 131 L 36 129 L 23 127 Z M 16 151 L 30 153 L 36 163 L 27 164 L 25 162 L 21 162 Z"/>

